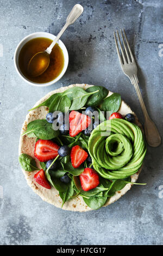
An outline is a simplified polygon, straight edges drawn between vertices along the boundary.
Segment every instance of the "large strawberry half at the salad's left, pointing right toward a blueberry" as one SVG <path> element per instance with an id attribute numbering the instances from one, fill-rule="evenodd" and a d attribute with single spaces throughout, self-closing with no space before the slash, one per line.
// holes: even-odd
<path id="1" fill-rule="evenodd" d="M 46 162 L 58 156 L 59 146 L 48 139 L 39 139 L 35 143 L 34 156 L 40 162 Z"/>

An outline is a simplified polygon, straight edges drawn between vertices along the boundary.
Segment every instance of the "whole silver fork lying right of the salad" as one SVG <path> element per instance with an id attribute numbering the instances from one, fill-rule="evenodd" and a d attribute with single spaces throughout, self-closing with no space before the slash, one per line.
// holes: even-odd
<path id="1" fill-rule="evenodd" d="M 124 29 L 123 29 L 123 33 L 124 33 L 124 36 L 121 31 L 121 36 L 122 36 L 122 41 L 123 41 L 123 46 L 124 46 L 124 51 L 126 53 L 126 56 L 124 55 L 124 51 L 123 51 L 121 40 L 120 40 L 120 35 L 117 31 L 117 36 L 118 36 L 118 41 L 119 41 L 120 48 L 121 48 L 121 53 L 118 48 L 116 33 L 114 32 L 114 38 L 115 38 L 118 57 L 119 57 L 120 63 L 121 63 L 121 68 L 122 68 L 124 74 L 130 78 L 131 84 L 134 84 L 137 96 L 139 97 L 142 112 L 145 117 L 144 127 L 145 127 L 145 135 L 146 135 L 147 143 L 151 147 L 158 147 L 161 144 L 161 137 L 159 135 L 159 131 L 156 128 L 154 122 L 151 120 L 151 118 L 149 118 L 149 115 L 147 113 L 147 109 L 145 107 L 145 103 L 143 102 L 141 92 L 139 89 L 139 85 L 138 85 L 139 81 L 137 78 L 137 66 L 136 66 L 136 63 L 135 63 L 135 60 L 133 57 L 133 53 L 131 52 L 129 42 L 127 40 L 126 33 L 125 33 Z M 126 39 L 126 42 L 124 41 L 124 37 Z M 126 44 L 127 44 L 127 46 L 126 46 Z M 122 57 L 121 57 L 121 54 L 122 54 Z M 129 57 L 129 54 L 130 54 L 130 57 Z M 126 57 L 127 57 L 127 59 L 126 59 Z"/>

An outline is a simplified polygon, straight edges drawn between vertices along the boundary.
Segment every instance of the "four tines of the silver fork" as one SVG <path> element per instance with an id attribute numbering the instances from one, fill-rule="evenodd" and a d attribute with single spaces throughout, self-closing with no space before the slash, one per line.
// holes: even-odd
<path id="1" fill-rule="evenodd" d="M 124 33 L 124 36 L 123 36 L 123 33 Z M 117 42 L 117 38 L 116 38 L 116 33 L 114 32 L 114 38 L 115 38 L 117 53 L 118 53 L 118 57 L 119 57 L 119 59 L 120 59 L 121 65 L 127 64 L 127 63 L 133 63 L 133 62 L 134 62 L 133 53 L 131 52 L 131 48 L 130 48 L 130 46 L 129 46 L 129 42 L 128 42 L 128 40 L 127 40 L 127 36 L 126 36 L 125 31 L 124 31 L 124 28 L 123 28 L 123 33 L 122 33 L 122 30 L 121 30 L 121 36 L 122 36 L 122 41 L 123 41 L 123 46 L 124 46 L 124 50 L 125 50 L 126 56 L 125 56 L 124 51 L 123 51 L 123 47 L 122 47 L 122 44 L 121 44 L 120 35 L 119 35 L 118 31 L 117 31 L 118 42 L 119 42 L 119 44 L 120 44 L 121 53 L 122 53 L 122 57 L 123 57 L 123 58 L 122 58 L 122 57 L 121 57 L 120 50 L 119 50 L 119 47 L 118 47 L 118 42 Z M 124 41 L 124 37 L 125 37 L 125 39 L 126 39 L 126 42 Z M 127 48 L 126 44 L 127 44 L 128 48 Z M 128 51 L 129 51 L 129 53 L 130 53 L 130 57 L 129 57 Z M 126 57 L 127 57 L 127 59 L 126 59 Z"/>

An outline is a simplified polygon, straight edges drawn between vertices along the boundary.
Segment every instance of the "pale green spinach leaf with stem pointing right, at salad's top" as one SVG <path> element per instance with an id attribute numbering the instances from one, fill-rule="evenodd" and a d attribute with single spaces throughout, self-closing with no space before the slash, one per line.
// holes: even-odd
<path id="1" fill-rule="evenodd" d="M 84 89 L 80 87 L 72 87 L 67 89 L 63 94 L 72 101 L 70 110 L 78 110 L 86 104 L 88 97 L 96 92 L 87 93 Z"/>

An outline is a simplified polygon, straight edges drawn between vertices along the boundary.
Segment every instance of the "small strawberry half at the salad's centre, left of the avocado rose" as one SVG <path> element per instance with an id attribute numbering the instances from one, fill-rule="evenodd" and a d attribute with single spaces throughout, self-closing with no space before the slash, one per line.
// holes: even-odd
<path id="1" fill-rule="evenodd" d="M 79 147 L 79 145 L 74 146 L 71 149 L 71 163 L 74 168 L 78 168 L 87 159 L 88 154 L 86 151 Z"/>

